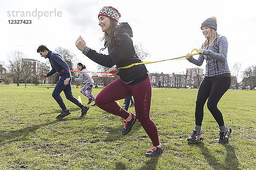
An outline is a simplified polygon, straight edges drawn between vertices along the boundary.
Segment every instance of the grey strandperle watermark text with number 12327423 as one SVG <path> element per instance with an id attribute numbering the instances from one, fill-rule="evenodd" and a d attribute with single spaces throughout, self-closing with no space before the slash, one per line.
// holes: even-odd
<path id="1" fill-rule="evenodd" d="M 39 11 L 35 8 L 34 11 L 7 11 L 7 17 L 24 18 L 24 20 L 8 20 L 9 24 L 31 24 L 32 20 L 27 20 L 25 17 L 35 17 L 40 20 L 42 17 L 62 17 L 62 12 L 57 11 L 56 8 L 53 11 Z"/>

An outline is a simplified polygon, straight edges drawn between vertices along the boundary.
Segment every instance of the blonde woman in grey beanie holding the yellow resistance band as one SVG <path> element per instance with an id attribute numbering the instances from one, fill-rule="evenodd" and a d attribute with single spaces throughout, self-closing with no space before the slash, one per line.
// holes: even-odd
<path id="1" fill-rule="evenodd" d="M 206 60 L 206 72 L 198 89 L 195 107 L 195 130 L 187 138 L 190 142 L 203 140 L 201 126 L 204 116 L 204 104 L 218 123 L 220 133 L 220 144 L 228 142 L 231 128 L 225 126 L 221 111 L 217 104 L 224 93 L 229 89 L 231 82 L 230 69 L 227 65 L 227 38 L 219 35 L 217 31 L 217 20 L 215 17 L 208 18 L 201 25 L 201 30 L 206 38 L 202 47 L 198 50 L 198 59 L 192 56 L 186 59 L 195 65 L 201 66 Z M 189 55 L 189 54 L 188 54 Z"/>

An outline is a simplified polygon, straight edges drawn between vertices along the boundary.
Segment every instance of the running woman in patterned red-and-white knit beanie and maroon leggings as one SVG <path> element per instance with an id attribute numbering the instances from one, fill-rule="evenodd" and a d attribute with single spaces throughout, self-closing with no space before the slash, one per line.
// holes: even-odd
<path id="1" fill-rule="evenodd" d="M 142 61 L 134 50 L 131 27 L 128 23 L 118 23 L 120 17 L 119 11 L 111 6 L 103 7 L 99 11 L 99 26 L 104 32 L 103 40 L 105 40 L 105 48 L 108 48 L 108 55 L 99 54 L 87 47 L 81 37 L 76 40 L 76 46 L 84 55 L 100 65 L 109 68 L 116 65 L 109 73 L 118 74 L 120 79 L 116 79 L 100 91 L 95 103 L 104 111 L 122 118 L 124 122 L 122 135 L 128 134 L 138 119 L 153 144 L 145 155 L 154 156 L 159 154 L 163 147 L 159 142 L 157 127 L 149 116 L 151 82 L 144 64 L 123 68 Z M 129 113 L 115 102 L 130 95 L 134 96 L 136 114 Z"/>

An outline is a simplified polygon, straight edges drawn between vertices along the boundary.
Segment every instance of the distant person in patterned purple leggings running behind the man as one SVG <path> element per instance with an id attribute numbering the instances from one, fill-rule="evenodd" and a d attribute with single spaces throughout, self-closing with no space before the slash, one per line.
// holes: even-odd
<path id="1" fill-rule="evenodd" d="M 77 69 L 79 71 L 87 71 L 86 67 L 81 62 L 79 62 L 77 64 Z M 83 86 L 83 88 L 81 89 L 80 92 L 81 92 L 81 94 L 83 94 L 84 96 L 86 96 L 88 98 L 87 105 L 89 105 L 91 102 L 95 101 L 95 97 L 92 94 L 94 81 L 89 76 L 89 74 L 87 74 L 86 72 L 80 72 L 80 77 L 74 78 L 74 80 L 76 80 L 76 81 L 81 81 L 82 79 L 84 79 L 85 85 Z M 87 93 L 86 93 L 86 91 L 87 91 Z"/>

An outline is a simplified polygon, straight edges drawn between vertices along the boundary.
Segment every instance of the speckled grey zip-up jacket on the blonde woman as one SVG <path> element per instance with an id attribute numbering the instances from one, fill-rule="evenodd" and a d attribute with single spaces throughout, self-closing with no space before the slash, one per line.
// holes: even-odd
<path id="1" fill-rule="evenodd" d="M 227 65 L 227 38 L 218 34 L 214 44 L 204 49 L 203 54 L 199 55 L 198 59 L 192 57 L 188 60 L 195 65 L 201 66 L 204 59 L 206 59 L 204 76 L 212 77 L 230 73 L 230 69 Z"/>

